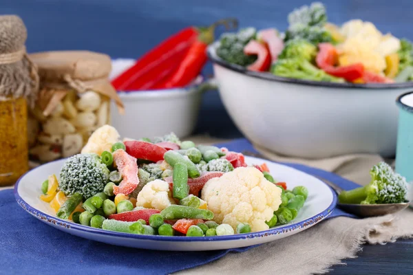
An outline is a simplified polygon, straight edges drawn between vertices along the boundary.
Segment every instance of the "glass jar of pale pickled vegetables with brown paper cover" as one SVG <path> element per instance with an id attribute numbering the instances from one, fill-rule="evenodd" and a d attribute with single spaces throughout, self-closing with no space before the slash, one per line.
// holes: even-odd
<path id="1" fill-rule="evenodd" d="M 40 91 L 29 113 L 30 159 L 50 162 L 81 152 L 98 127 L 109 124 L 109 101 L 123 104 L 109 83 L 111 60 L 86 51 L 30 54 Z"/>

